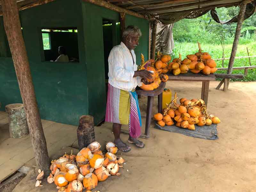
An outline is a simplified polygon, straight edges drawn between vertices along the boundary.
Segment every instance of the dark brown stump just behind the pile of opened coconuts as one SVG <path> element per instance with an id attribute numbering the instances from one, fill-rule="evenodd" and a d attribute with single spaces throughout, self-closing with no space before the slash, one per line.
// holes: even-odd
<path id="1" fill-rule="evenodd" d="M 81 116 L 76 132 L 79 150 L 87 147 L 90 143 L 95 141 L 93 116 Z"/>

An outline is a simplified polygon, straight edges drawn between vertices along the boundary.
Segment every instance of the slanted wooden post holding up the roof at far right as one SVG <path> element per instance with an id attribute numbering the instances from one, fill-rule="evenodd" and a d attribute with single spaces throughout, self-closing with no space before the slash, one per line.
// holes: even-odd
<path id="1" fill-rule="evenodd" d="M 234 43 L 233 43 L 233 47 L 232 47 L 232 51 L 231 51 L 231 55 L 230 55 L 230 59 L 229 59 L 229 63 L 228 63 L 228 74 L 232 73 L 232 68 L 234 65 L 235 57 L 236 57 L 236 50 L 237 50 L 239 38 L 241 35 L 242 23 L 244 21 L 245 8 L 246 8 L 246 4 L 242 3 L 240 6 L 240 11 L 239 11 L 237 25 L 236 25 L 235 39 L 234 39 Z M 229 85 L 229 79 L 225 79 L 223 91 L 228 90 L 228 85 Z"/>

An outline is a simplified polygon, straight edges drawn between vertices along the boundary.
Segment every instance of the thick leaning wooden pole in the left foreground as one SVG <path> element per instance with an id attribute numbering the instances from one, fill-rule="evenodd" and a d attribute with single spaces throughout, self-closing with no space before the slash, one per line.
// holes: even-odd
<path id="1" fill-rule="evenodd" d="M 28 55 L 21 33 L 20 17 L 16 0 L 2 0 L 4 28 L 12 53 L 12 60 L 24 104 L 28 129 L 35 152 L 36 168 L 47 173 L 50 162 L 36 94 L 28 63 Z"/>

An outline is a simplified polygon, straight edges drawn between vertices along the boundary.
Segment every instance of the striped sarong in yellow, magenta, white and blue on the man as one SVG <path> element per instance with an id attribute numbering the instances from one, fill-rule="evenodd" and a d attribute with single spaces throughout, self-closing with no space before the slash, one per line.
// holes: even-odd
<path id="1" fill-rule="evenodd" d="M 132 138 L 138 138 L 141 130 L 141 116 L 138 95 L 108 84 L 106 122 L 128 124 Z"/>

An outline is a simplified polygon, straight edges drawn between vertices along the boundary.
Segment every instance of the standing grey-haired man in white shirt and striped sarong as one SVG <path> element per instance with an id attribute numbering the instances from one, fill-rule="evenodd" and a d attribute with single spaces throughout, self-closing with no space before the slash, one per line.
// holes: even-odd
<path id="1" fill-rule="evenodd" d="M 144 143 L 138 140 L 141 130 L 140 108 L 136 86 L 141 86 L 145 79 L 152 79 L 151 72 L 137 71 L 135 47 L 139 44 L 140 29 L 128 26 L 123 32 L 120 45 L 113 47 L 108 57 L 108 100 L 106 122 L 113 123 L 113 133 L 116 147 L 128 152 L 131 147 L 120 139 L 122 124 L 129 124 L 128 142 L 138 148 L 144 148 Z"/>

